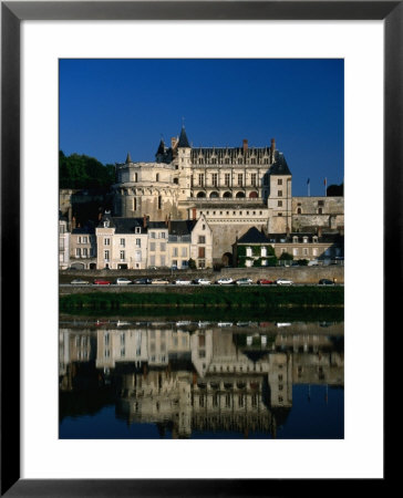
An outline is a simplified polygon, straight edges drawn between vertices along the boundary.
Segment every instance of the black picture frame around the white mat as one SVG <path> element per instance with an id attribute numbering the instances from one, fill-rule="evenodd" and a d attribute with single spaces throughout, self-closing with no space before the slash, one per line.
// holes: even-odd
<path id="1" fill-rule="evenodd" d="M 1 2 L 1 496 L 288 496 L 340 491 L 341 479 L 21 479 L 20 478 L 20 24 L 24 20 L 382 20 L 384 22 L 384 336 L 399 323 L 402 255 L 403 1 L 4 1 Z M 380 165 L 380 175 L 381 165 Z M 399 283 L 399 282 L 397 282 Z M 381 282 L 378 282 L 381 284 Z M 12 331 L 12 333 L 10 333 Z M 386 342 L 384 341 L 386 346 Z M 391 360 L 393 363 L 393 360 Z M 386 372 L 385 372 L 386 373 Z M 385 376 L 385 393 L 388 377 Z M 386 398 L 386 396 L 385 396 Z M 386 414 L 386 412 L 385 412 Z M 370 437 L 370 436 L 369 436 Z M 184 457 L 186 457 L 184 455 Z M 225 456 L 224 456 L 225 457 Z M 371 481 L 379 491 L 384 478 Z M 352 480 L 349 483 L 351 490 Z M 358 481 L 362 490 L 362 483 Z"/>

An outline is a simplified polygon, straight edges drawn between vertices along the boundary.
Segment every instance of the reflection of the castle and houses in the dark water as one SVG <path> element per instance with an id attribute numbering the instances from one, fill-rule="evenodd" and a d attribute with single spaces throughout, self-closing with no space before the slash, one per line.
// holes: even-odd
<path id="1" fill-rule="evenodd" d="M 61 397 L 85 393 L 82 414 L 85 400 L 92 398 L 89 412 L 112 402 L 117 418 L 156 424 L 162 437 L 276 437 L 292 407 L 293 385 L 344 384 L 342 323 L 69 325 L 60 329 Z M 61 400 L 61 418 L 69 415 Z"/>

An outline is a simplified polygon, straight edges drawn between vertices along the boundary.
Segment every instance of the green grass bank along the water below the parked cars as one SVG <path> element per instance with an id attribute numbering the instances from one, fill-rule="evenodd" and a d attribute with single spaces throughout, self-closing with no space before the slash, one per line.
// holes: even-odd
<path id="1" fill-rule="evenodd" d="M 126 308 L 268 309 L 337 307 L 344 303 L 342 287 L 197 288 L 188 293 L 91 292 L 60 297 L 60 310 L 124 310 Z"/>

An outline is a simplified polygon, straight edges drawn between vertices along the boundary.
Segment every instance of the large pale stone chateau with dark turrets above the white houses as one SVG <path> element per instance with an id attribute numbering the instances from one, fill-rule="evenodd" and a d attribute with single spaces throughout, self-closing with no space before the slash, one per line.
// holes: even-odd
<path id="1" fill-rule="evenodd" d="M 270 146 L 193 147 L 185 127 L 154 163 L 116 164 L 113 215 L 153 221 L 205 217 L 213 231 L 213 261 L 231 261 L 234 242 L 251 227 L 267 236 L 338 234 L 344 226 L 343 197 L 292 197 L 285 155 Z M 270 238 L 270 237 L 269 237 Z"/>

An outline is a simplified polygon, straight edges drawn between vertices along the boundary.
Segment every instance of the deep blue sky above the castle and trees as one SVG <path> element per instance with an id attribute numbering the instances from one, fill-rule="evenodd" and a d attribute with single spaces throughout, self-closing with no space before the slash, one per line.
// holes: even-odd
<path id="1" fill-rule="evenodd" d="M 60 149 L 103 164 L 154 160 L 183 118 L 195 147 L 270 145 L 292 173 L 293 195 L 343 180 L 341 59 L 61 60 Z"/>

